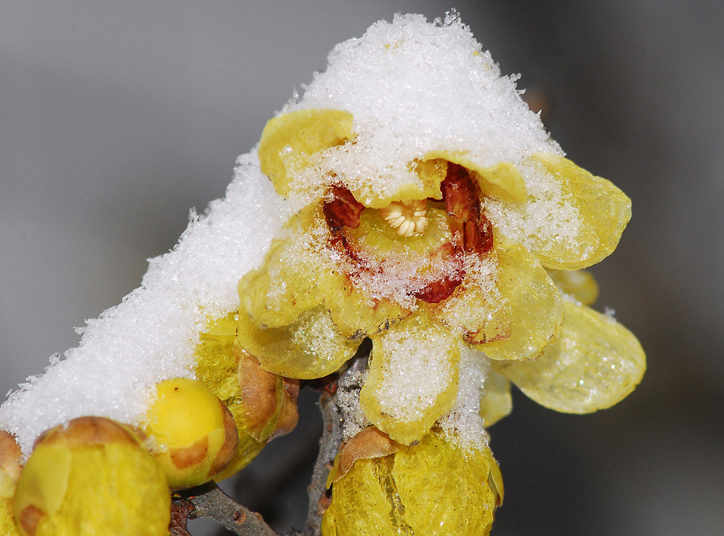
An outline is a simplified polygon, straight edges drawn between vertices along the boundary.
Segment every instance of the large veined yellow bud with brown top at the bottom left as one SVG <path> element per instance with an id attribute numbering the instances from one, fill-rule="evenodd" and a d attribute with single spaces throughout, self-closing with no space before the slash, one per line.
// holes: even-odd
<path id="1" fill-rule="evenodd" d="M 24 536 L 165 536 L 170 506 L 164 473 L 138 435 L 96 416 L 39 437 L 14 496 Z"/>

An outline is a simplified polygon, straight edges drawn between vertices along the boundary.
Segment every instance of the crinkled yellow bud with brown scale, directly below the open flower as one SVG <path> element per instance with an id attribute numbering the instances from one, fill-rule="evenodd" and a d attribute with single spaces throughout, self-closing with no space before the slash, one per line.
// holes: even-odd
<path id="1" fill-rule="evenodd" d="M 340 470 L 344 449 L 335 461 L 323 536 L 489 533 L 502 480 L 488 448 L 461 451 L 434 432 L 414 446 L 387 445 L 379 437 L 370 443 L 372 437 L 362 443 L 373 448 L 355 453 L 346 473 Z M 369 457 L 374 450 L 382 456 Z"/>

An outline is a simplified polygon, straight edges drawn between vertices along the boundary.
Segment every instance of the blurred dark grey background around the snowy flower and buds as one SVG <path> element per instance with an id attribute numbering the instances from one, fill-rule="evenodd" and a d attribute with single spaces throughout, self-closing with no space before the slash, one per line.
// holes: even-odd
<path id="1" fill-rule="evenodd" d="M 491 431 L 493 535 L 724 534 L 721 1 L 1 1 L 0 392 L 139 285 L 335 43 L 453 6 L 569 156 L 633 199 L 594 273 L 649 357 L 592 416 L 515 393 Z M 279 529 L 303 519 L 319 427 L 229 484 Z"/>

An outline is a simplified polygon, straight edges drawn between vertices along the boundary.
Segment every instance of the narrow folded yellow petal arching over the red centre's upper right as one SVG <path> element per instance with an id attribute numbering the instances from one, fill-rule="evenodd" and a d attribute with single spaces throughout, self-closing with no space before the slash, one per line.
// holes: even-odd
<path id="1" fill-rule="evenodd" d="M 431 151 L 424 156 L 424 160 L 445 159 L 447 162 L 459 164 L 469 171 L 478 180 L 480 190 L 486 196 L 491 196 L 508 203 L 525 203 L 528 198 L 526 181 L 521 172 L 510 162 L 499 162 L 492 166 L 481 164 L 468 158 L 466 153 L 460 151 Z M 444 179 L 443 175 L 440 179 Z"/>

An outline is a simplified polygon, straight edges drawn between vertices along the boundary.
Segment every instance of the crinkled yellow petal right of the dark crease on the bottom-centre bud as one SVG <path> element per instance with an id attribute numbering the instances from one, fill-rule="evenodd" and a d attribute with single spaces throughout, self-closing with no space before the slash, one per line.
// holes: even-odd
<path id="1" fill-rule="evenodd" d="M 489 449 L 460 453 L 437 435 L 394 455 L 392 480 L 404 506 L 405 522 L 415 535 L 487 535 L 500 474 Z M 492 469 L 494 466 L 494 469 Z"/>

